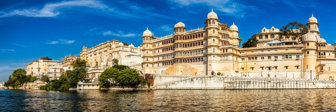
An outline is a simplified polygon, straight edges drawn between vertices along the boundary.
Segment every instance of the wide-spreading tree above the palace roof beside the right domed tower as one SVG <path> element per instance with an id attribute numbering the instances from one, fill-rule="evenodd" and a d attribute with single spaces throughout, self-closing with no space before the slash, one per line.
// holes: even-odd
<path id="1" fill-rule="evenodd" d="M 307 26 L 297 21 L 282 26 L 282 29 L 279 31 L 279 35 L 286 38 L 286 40 L 291 37 L 292 40 L 298 39 L 298 41 L 301 40 L 302 36 L 306 33 L 308 33 Z"/>

